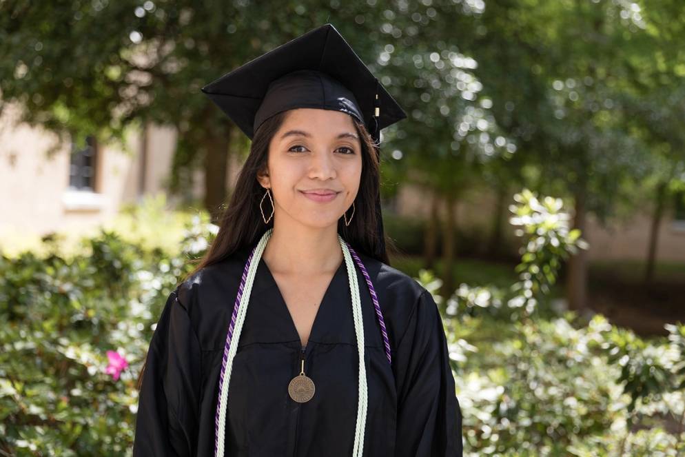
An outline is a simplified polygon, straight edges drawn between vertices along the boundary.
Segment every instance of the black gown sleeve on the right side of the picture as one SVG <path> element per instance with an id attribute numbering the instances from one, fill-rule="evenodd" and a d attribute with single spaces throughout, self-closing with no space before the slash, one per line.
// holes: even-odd
<path id="1" fill-rule="evenodd" d="M 442 319 L 430 292 L 418 298 L 397 348 L 396 457 L 461 457 L 461 409 Z"/>

